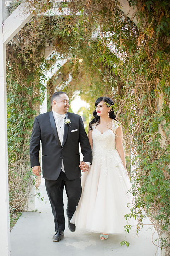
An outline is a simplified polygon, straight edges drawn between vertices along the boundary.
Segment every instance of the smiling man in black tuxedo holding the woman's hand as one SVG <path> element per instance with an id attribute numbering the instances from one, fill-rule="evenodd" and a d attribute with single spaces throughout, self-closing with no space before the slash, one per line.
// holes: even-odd
<path id="1" fill-rule="evenodd" d="M 67 217 L 70 223 L 81 196 L 81 170 L 87 171 L 92 163 L 92 152 L 81 117 L 69 113 L 69 98 L 65 92 L 55 92 L 51 98 L 52 111 L 35 117 L 30 139 L 30 162 L 33 174 L 40 176 L 40 141 L 42 143 L 42 170 L 45 186 L 54 215 L 53 241 L 64 236 L 64 186 L 68 197 Z M 79 142 L 83 161 L 80 162 Z M 81 170 L 80 170 L 81 169 Z"/>

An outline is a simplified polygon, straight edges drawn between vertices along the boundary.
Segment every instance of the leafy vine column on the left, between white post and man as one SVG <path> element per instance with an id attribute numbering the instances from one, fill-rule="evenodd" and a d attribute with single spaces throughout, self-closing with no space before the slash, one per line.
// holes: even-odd
<path id="1" fill-rule="evenodd" d="M 46 43 L 44 35 L 40 41 L 39 24 L 35 34 L 34 23 L 27 24 L 17 35 L 20 48 L 12 43 L 7 45 L 7 117 L 8 117 L 8 170 L 10 212 L 23 211 L 32 185 L 29 162 L 29 140 L 34 117 L 39 114 L 39 105 L 44 98 L 44 72 L 55 62 L 55 58 L 44 60 Z M 45 23 L 46 24 L 46 23 Z M 32 30 L 30 30 L 32 29 Z M 28 44 L 27 40 L 35 42 Z M 34 34 L 34 36 L 33 36 Z M 47 34 L 46 34 L 47 35 Z M 34 39 L 33 39 L 34 38 Z"/>

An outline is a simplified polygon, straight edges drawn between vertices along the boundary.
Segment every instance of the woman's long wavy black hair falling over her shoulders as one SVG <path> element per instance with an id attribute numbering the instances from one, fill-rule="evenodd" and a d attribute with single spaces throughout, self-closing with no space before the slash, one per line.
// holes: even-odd
<path id="1" fill-rule="evenodd" d="M 95 106 L 97 107 L 97 105 L 98 105 L 101 101 L 106 102 L 107 107 L 112 107 L 112 106 L 114 105 L 114 102 L 113 102 L 113 100 L 112 100 L 111 98 L 102 96 L 102 97 L 100 97 L 100 98 L 98 98 L 98 99 L 96 100 Z M 93 118 L 93 119 L 90 121 L 90 123 L 89 123 L 89 127 L 90 127 L 89 131 L 92 130 L 92 125 L 93 125 L 94 123 L 96 123 L 96 126 L 97 126 L 97 125 L 99 124 L 99 122 L 100 122 L 100 116 L 97 115 L 96 109 L 93 111 L 93 116 L 94 116 L 94 118 Z M 115 113 L 114 113 L 113 110 L 111 110 L 111 111 L 109 112 L 109 117 L 112 118 L 112 119 L 114 119 L 114 120 L 116 119 L 116 115 L 115 115 Z"/>

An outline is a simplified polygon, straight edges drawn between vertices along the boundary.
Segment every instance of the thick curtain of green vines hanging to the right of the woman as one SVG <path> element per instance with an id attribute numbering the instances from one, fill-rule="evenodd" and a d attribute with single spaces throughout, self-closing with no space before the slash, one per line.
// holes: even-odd
<path id="1" fill-rule="evenodd" d="M 129 1 L 138 10 L 135 26 L 121 13 L 118 1 L 72 2 L 73 9 L 84 9 L 86 19 L 99 21 L 104 64 L 112 66 L 124 82 L 115 109 L 134 155 L 131 192 L 135 199 L 129 216 L 138 218 L 139 231 L 147 215 L 159 234 L 160 246 L 169 255 L 169 3 Z M 110 57 L 106 48 L 117 58 Z"/>

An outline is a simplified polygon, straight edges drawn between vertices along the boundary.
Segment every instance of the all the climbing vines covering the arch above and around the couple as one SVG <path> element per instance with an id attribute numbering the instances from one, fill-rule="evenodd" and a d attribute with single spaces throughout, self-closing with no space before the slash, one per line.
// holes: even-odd
<path id="1" fill-rule="evenodd" d="M 39 1 L 30 2 L 36 5 Z M 50 9 L 52 1 L 47 3 L 44 8 Z M 137 7 L 137 25 L 119 9 L 119 1 L 61 3 L 58 6 L 61 16 L 35 15 L 17 35 L 20 48 L 8 46 L 10 161 L 16 159 L 18 150 L 28 152 L 28 147 L 25 150 L 23 146 L 29 143 L 33 116 L 44 90 L 40 77 L 55 61 L 52 59 L 55 57 L 45 61 L 41 53 L 52 43 L 57 54 L 69 60 L 49 80 L 49 97 L 55 89 L 66 90 L 69 97 L 79 90 L 90 106 L 98 96 L 113 97 L 115 111 L 124 127 L 126 154 L 131 150 L 133 155 L 134 206 L 127 217 L 139 220 L 139 232 L 147 215 L 159 234 L 159 241 L 153 242 L 157 245 L 159 242 L 167 256 L 170 254 L 170 6 L 168 0 L 130 0 L 129 4 Z M 70 8 L 70 15 L 62 16 L 64 7 Z M 94 33 L 97 37 L 92 38 Z M 44 70 L 41 64 L 45 65 Z M 16 90 L 18 101 L 12 97 Z M 24 102 L 26 95 L 29 99 Z M 19 106 L 22 108 L 18 110 Z M 23 109 L 28 111 L 25 113 L 28 119 L 23 119 L 23 114 L 15 117 L 16 110 L 21 109 L 21 113 Z M 18 120 L 16 126 L 14 120 Z M 15 144 L 13 140 L 21 143 Z"/>

